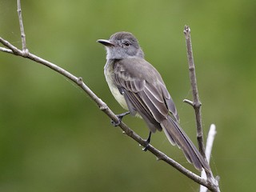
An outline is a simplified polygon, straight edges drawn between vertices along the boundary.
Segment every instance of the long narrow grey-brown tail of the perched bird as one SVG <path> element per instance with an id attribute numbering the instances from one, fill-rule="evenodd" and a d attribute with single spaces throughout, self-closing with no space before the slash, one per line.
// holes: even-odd
<path id="1" fill-rule="evenodd" d="M 178 145 L 183 150 L 188 162 L 192 163 L 197 170 L 210 170 L 208 162 L 199 153 L 198 149 L 191 142 L 190 138 L 182 130 L 178 122 L 175 122 L 170 116 L 161 123 L 166 137 L 172 145 Z"/>

